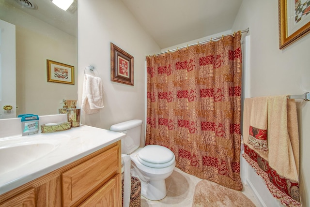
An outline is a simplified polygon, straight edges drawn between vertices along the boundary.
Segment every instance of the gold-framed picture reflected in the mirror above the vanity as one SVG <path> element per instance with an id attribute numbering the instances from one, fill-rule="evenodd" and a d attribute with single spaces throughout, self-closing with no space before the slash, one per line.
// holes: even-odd
<path id="1" fill-rule="evenodd" d="M 74 66 L 47 59 L 47 82 L 74 85 Z"/>

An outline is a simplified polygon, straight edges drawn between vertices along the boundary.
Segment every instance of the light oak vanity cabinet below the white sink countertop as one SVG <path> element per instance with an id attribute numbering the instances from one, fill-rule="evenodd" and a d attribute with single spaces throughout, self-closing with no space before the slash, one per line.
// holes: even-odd
<path id="1" fill-rule="evenodd" d="M 0 207 L 122 205 L 121 141 L 0 195 Z"/>

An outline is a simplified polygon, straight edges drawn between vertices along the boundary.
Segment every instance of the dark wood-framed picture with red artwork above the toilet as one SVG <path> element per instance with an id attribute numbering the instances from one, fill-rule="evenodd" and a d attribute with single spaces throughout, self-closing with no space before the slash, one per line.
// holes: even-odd
<path id="1" fill-rule="evenodd" d="M 134 85 L 134 57 L 111 43 L 111 81 Z"/>

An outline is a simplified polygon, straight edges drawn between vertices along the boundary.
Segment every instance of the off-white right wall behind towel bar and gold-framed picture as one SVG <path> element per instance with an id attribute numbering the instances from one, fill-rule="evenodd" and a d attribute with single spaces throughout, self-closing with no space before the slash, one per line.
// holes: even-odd
<path id="1" fill-rule="evenodd" d="M 310 91 L 310 34 L 279 50 L 277 0 L 244 0 L 232 30 L 248 27 L 249 95 L 297 95 Z M 302 206 L 310 207 L 310 103 L 296 102 L 300 137 L 300 194 Z M 257 186 L 266 206 L 277 206 L 276 201 L 264 196 L 267 190 L 261 188 L 261 180 L 255 172 L 249 171 L 248 176 L 254 187 Z"/>

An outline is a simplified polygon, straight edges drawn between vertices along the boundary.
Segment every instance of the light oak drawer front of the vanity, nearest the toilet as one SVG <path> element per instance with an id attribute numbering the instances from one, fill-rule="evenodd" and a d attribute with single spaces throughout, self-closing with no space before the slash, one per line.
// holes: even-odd
<path id="1" fill-rule="evenodd" d="M 62 205 L 72 206 L 100 188 L 119 170 L 119 146 L 62 173 Z"/>

